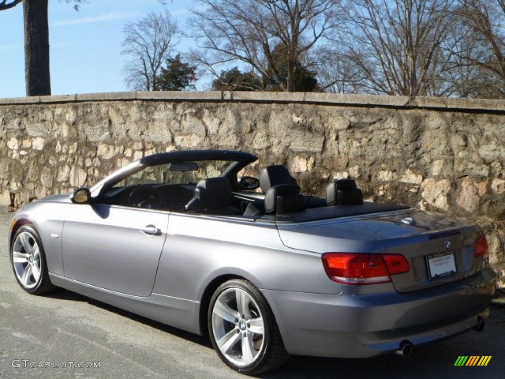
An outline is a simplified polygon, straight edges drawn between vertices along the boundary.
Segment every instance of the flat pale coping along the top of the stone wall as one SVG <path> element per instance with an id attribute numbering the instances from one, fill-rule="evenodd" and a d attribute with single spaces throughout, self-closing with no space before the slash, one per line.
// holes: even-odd
<path id="1" fill-rule="evenodd" d="M 173 102 L 251 102 L 345 105 L 381 108 L 427 108 L 450 111 L 505 113 L 505 100 L 452 99 L 405 96 L 380 96 L 317 92 L 249 92 L 249 91 L 127 91 L 76 93 L 57 96 L 33 96 L 0 99 L 0 106 L 16 104 L 72 103 L 89 101 L 173 101 Z"/>

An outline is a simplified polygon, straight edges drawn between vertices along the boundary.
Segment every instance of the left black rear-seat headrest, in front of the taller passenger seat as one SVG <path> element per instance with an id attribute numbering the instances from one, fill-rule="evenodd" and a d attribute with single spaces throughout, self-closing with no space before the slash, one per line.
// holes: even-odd
<path id="1" fill-rule="evenodd" d="M 282 214 L 305 210 L 305 197 L 299 192 L 295 184 L 274 185 L 265 194 L 265 211 Z"/>

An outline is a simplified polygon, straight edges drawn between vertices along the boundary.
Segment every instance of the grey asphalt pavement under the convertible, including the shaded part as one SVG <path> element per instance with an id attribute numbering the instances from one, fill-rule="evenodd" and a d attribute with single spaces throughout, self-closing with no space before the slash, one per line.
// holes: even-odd
<path id="1" fill-rule="evenodd" d="M 208 339 L 65 290 L 32 296 L 18 287 L 0 208 L 0 378 L 235 378 Z M 409 358 L 291 357 L 265 378 L 503 377 L 505 307 L 493 306 L 482 333 L 415 349 Z M 491 356 L 487 366 L 455 366 L 459 356 Z"/>

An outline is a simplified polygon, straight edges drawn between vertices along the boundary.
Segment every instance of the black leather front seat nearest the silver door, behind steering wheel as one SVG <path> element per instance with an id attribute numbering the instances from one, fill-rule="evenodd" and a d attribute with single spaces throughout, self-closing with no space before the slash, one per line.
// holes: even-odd
<path id="1" fill-rule="evenodd" d="M 207 178 L 196 184 L 193 198 L 186 204 L 186 210 L 220 215 L 240 214 L 237 208 L 231 206 L 232 199 L 228 178 Z"/>

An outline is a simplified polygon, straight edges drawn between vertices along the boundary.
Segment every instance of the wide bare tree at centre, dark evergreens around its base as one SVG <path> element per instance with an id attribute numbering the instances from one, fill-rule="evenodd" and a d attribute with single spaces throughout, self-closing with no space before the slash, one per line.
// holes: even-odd
<path id="1" fill-rule="evenodd" d="M 219 78 L 219 67 L 242 62 L 270 85 L 295 89 L 295 71 L 329 29 L 339 0 L 199 0 L 192 11 L 191 36 L 201 65 Z M 287 80 L 274 56 L 286 49 Z M 218 72 L 219 71 L 219 72 Z"/>

